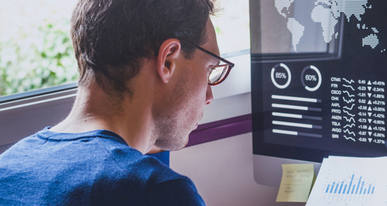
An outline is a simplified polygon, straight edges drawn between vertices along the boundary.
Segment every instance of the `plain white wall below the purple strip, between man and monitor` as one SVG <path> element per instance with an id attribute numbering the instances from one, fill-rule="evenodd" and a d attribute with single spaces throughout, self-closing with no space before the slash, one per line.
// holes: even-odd
<path id="1" fill-rule="evenodd" d="M 191 178 L 208 206 L 305 205 L 276 203 L 279 188 L 254 181 L 252 133 L 171 152 L 170 161 L 173 170 Z"/>

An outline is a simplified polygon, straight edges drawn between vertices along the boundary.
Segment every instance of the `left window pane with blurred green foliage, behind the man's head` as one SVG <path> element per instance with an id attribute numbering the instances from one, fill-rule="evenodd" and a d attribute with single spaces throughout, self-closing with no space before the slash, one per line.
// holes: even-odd
<path id="1" fill-rule="evenodd" d="M 75 82 L 76 0 L 0 0 L 0 96 Z"/>

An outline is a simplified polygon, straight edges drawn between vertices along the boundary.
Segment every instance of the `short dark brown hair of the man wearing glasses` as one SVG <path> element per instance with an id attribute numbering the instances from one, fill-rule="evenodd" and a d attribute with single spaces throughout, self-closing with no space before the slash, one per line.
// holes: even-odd
<path id="1" fill-rule="evenodd" d="M 71 39 L 79 68 L 78 85 L 96 81 L 111 94 L 131 91 L 140 59 L 158 54 L 175 38 L 201 45 L 214 14 L 211 0 L 79 0 L 71 18 Z M 193 48 L 182 46 L 186 57 Z"/>

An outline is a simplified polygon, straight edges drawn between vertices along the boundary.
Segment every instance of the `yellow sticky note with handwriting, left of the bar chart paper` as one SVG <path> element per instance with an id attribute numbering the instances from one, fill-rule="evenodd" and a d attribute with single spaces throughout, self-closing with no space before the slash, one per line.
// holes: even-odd
<path id="1" fill-rule="evenodd" d="M 314 179 L 313 164 L 282 165 L 282 171 L 276 202 L 306 203 Z"/>

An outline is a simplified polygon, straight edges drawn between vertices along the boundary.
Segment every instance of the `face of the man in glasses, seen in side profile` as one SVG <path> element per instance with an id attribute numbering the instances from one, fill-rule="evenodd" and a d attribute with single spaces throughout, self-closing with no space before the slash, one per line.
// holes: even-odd
<path id="1" fill-rule="evenodd" d="M 207 41 L 202 48 L 219 54 L 214 26 L 209 19 L 206 25 Z M 183 55 L 182 55 L 183 56 Z M 171 96 L 165 96 L 160 119 L 156 120 L 158 140 L 155 146 L 162 150 L 180 150 L 188 143 L 188 136 L 202 119 L 205 105 L 214 99 L 208 85 L 209 68 L 219 61 L 205 52 L 194 50 L 190 59 L 181 58 L 176 78 L 171 84 Z"/>

